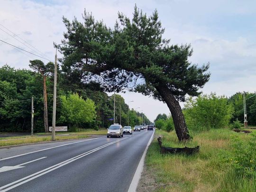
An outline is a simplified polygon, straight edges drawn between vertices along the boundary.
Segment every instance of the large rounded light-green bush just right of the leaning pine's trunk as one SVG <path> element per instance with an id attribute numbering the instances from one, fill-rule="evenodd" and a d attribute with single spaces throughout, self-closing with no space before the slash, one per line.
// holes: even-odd
<path id="1" fill-rule="evenodd" d="M 228 103 L 226 97 L 211 93 L 195 100 L 190 98 L 183 113 L 190 129 L 202 131 L 228 126 L 233 111 L 233 106 Z"/>

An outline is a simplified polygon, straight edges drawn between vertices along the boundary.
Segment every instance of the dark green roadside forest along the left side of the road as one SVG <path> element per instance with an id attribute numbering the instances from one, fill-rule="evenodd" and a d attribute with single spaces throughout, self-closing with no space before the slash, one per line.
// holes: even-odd
<path id="1" fill-rule="evenodd" d="M 0 67 L 0 132 L 29 132 L 31 98 L 34 97 L 34 131 L 48 132 L 52 124 L 53 63 L 30 61 L 34 71 Z M 77 128 L 107 128 L 113 123 L 114 96 L 108 96 L 98 83 L 77 83 L 58 69 L 56 125 Z M 134 126 L 151 122 L 145 114 L 129 109 L 116 94 L 116 122 Z"/>

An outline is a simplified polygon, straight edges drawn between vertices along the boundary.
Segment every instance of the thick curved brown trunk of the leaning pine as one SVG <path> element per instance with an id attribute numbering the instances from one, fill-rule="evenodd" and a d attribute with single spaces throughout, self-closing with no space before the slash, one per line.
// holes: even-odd
<path id="1" fill-rule="evenodd" d="M 163 100 L 171 111 L 174 120 L 175 132 L 179 141 L 190 140 L 191 137 L 189 135 L 189 131 L 179 101 L 175 99 L 174 95 L 167 87 L 158 86 L 156 87 L 156 90 L 160 93 Z"/>

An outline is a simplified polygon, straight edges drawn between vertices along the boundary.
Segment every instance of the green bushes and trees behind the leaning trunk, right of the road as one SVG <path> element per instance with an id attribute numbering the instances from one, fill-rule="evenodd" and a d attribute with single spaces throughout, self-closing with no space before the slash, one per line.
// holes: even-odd
<path id="1" fill-rule="evenodd" d="M 256 125 L 256 93 L 245 95 L 248 125 Z M 193 131 L 208 131 L 244 124 L 244 98 L 242 92 L 228 97 L 217 96 L 215 93 L 189 98 L 184 105 L 183 114 L 186 124 Z M 172 116 L 158 114 L 156 127 L 171 131 L 174 127 Z"/>

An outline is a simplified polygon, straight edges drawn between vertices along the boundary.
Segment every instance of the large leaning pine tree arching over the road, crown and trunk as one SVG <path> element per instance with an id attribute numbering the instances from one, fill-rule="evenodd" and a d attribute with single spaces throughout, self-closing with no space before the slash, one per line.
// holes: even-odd
<path id="1" fill-rule="evenodd" d="M 146 17 L 135 6 L 132 20 L 122 13 L 118 18 L 114 29 L 86 12 L 83 23 L 63 18 L 67 32 L 59 49 L 67 78 L 75 74 L 82 82 L 100 82 L 109 92 L 128 89 L 164 101 L 179 141 L 189 140 L 179 101 L 186 94 L 200 94 L 199 88 L 210 78 L 209 65 L 192 65 L 190 45 L 169 45 L 162 38 L 164 28 L 156 10 Z"/>

